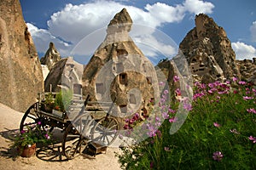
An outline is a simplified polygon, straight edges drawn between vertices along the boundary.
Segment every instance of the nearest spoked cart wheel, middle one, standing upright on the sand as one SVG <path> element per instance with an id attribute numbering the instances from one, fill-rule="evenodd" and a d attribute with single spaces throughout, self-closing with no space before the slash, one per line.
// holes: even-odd
<path id="1" fill-rule="evenodd" d="M 62 152 L 67 159 L 73 159 L 85 150 L 93 122 L 89 114 L 83 114 L 68 125 L 62 141 Z"/>

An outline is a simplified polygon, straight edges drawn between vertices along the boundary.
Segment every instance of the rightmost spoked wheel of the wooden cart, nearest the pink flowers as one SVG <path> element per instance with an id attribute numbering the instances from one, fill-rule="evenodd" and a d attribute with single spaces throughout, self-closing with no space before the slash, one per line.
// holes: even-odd
<path id="1" fill-rule="evenodd" d="M 114 117 L 103 117 L 91 131 L 91 139 L 97 144 L 109 146 L 117 138 L 119 122 Z"/>

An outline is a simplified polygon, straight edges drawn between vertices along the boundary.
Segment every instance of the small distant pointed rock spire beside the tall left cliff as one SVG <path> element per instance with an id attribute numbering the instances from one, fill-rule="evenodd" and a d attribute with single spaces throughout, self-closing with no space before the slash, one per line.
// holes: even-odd
<path id="1" fill-rule="evenodd" d="M 55 44 L 53 42 L 49 42 L 49 49 L 44 54 L 44 57 L 40 59 L 41 64 L 47 65 L 50 71 L 59 60 L 61 60 L 61 54 L 55 48 Z"/>

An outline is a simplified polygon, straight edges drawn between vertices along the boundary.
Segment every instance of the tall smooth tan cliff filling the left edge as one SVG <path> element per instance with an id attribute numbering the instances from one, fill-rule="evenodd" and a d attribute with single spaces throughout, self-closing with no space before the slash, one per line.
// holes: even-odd
<path id="1" fill-rule="evenodd" d="M 38 53 L 19 0 L 0 1 L 0 8 L 0 102 L 26 111 L 44 89 Z"/>

